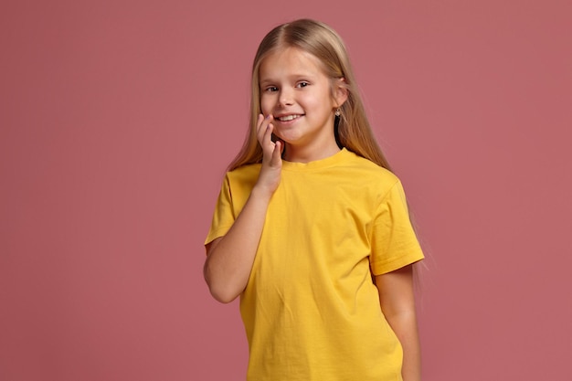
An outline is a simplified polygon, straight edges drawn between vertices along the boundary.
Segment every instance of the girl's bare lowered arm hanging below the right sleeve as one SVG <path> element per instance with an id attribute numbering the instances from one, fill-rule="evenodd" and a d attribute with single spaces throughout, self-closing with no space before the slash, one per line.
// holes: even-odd
<path id="1" fill-rule="evenodd" d="M 403 381 L 421 380 L 421 350 L 413 292 L 413 265 L 376 276 L 381 311 L 403 347 Z"/>

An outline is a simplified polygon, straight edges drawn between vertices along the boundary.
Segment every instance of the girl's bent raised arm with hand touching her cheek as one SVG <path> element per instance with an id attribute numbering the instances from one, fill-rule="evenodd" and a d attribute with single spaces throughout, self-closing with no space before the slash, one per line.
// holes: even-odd
<path id="1" fill-rule="evenodd" d="M 232 228 L 207 244 L 204 275 L 218 302 L 232 302 L 245 289 L 260 242 L 270 198 L 281 180 L 282 142 L 273 143 L 272 116 L 259 116 L 257 137 L 263 159 L 259 179 Z"/>

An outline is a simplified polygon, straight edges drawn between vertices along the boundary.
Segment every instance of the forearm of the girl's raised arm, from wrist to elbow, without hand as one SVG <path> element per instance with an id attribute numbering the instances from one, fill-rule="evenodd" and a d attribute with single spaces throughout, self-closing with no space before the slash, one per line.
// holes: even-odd
<path id="1" fill-rule="evenodd" d="M 205 280 L 219 302 L 235 300 L 249 281 L 270 196 L 255 187 L 232 228 L 207 252 Z"/>

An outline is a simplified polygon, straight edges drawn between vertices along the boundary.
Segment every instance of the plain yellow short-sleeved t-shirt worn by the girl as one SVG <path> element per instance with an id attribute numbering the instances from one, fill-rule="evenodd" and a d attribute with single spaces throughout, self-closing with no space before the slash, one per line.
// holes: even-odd
<path id="1" fill-rule="evenodd" d="M 252 164 L 226 175 L 206 243 L 227 233 L 259 172 Z M 240 297 L 247 379 L 401 380 L 401 345 L 371 274 L 422 258 L 395 175 L 345 149 L 283 162 Z"/>

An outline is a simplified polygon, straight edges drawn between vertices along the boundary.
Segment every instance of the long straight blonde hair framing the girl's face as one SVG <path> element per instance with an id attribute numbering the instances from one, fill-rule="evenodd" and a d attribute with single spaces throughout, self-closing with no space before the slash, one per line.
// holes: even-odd
<path id="1" fill-rule="evenodd" d="M 262 149 L 256 139 L 256 123 L 260 110 L 260 63 L 270 53 L 280 48 L 299 48 L 312 54 L 322 63 L 324 74 L 330 79 L 344 79 L 347 101 L 336 117 L 337 143 L 366 159 L 389 168 L 384 154 L 365 116 L 364 103 L 359 95 L 355 75 L 350 65 L 342 38 L 330 26 L 311 19 L 300 19 L 272 29 L 260 42 L 252 64 L 249 133 L 228 170 L 246 164 L 261 163 Z"/>

